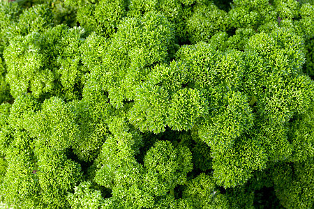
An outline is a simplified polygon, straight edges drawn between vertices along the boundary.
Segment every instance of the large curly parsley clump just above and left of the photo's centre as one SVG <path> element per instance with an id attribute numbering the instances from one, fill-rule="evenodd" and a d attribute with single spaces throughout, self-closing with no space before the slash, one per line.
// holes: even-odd
<path id="1" fill-rule="evenodd" d="M 98 92 L 107 91 L 113 107 L 124 107 L 124 100 L 135 100 L 136 88 L 148 77 L 149 67 L 167 61 L 167 49 L 173 39 L 172 24 L 154 13 L 126 19 L 107 42 L 100 36 L 89 36 L 82 52 L 89 54 L 96 50 L 91 51 L 89 45 L 100 47 L 84 62 L 84 67 L 91 70 L 87 86 Z M 101 65 L 95 65 L 94 61 Z"/>

